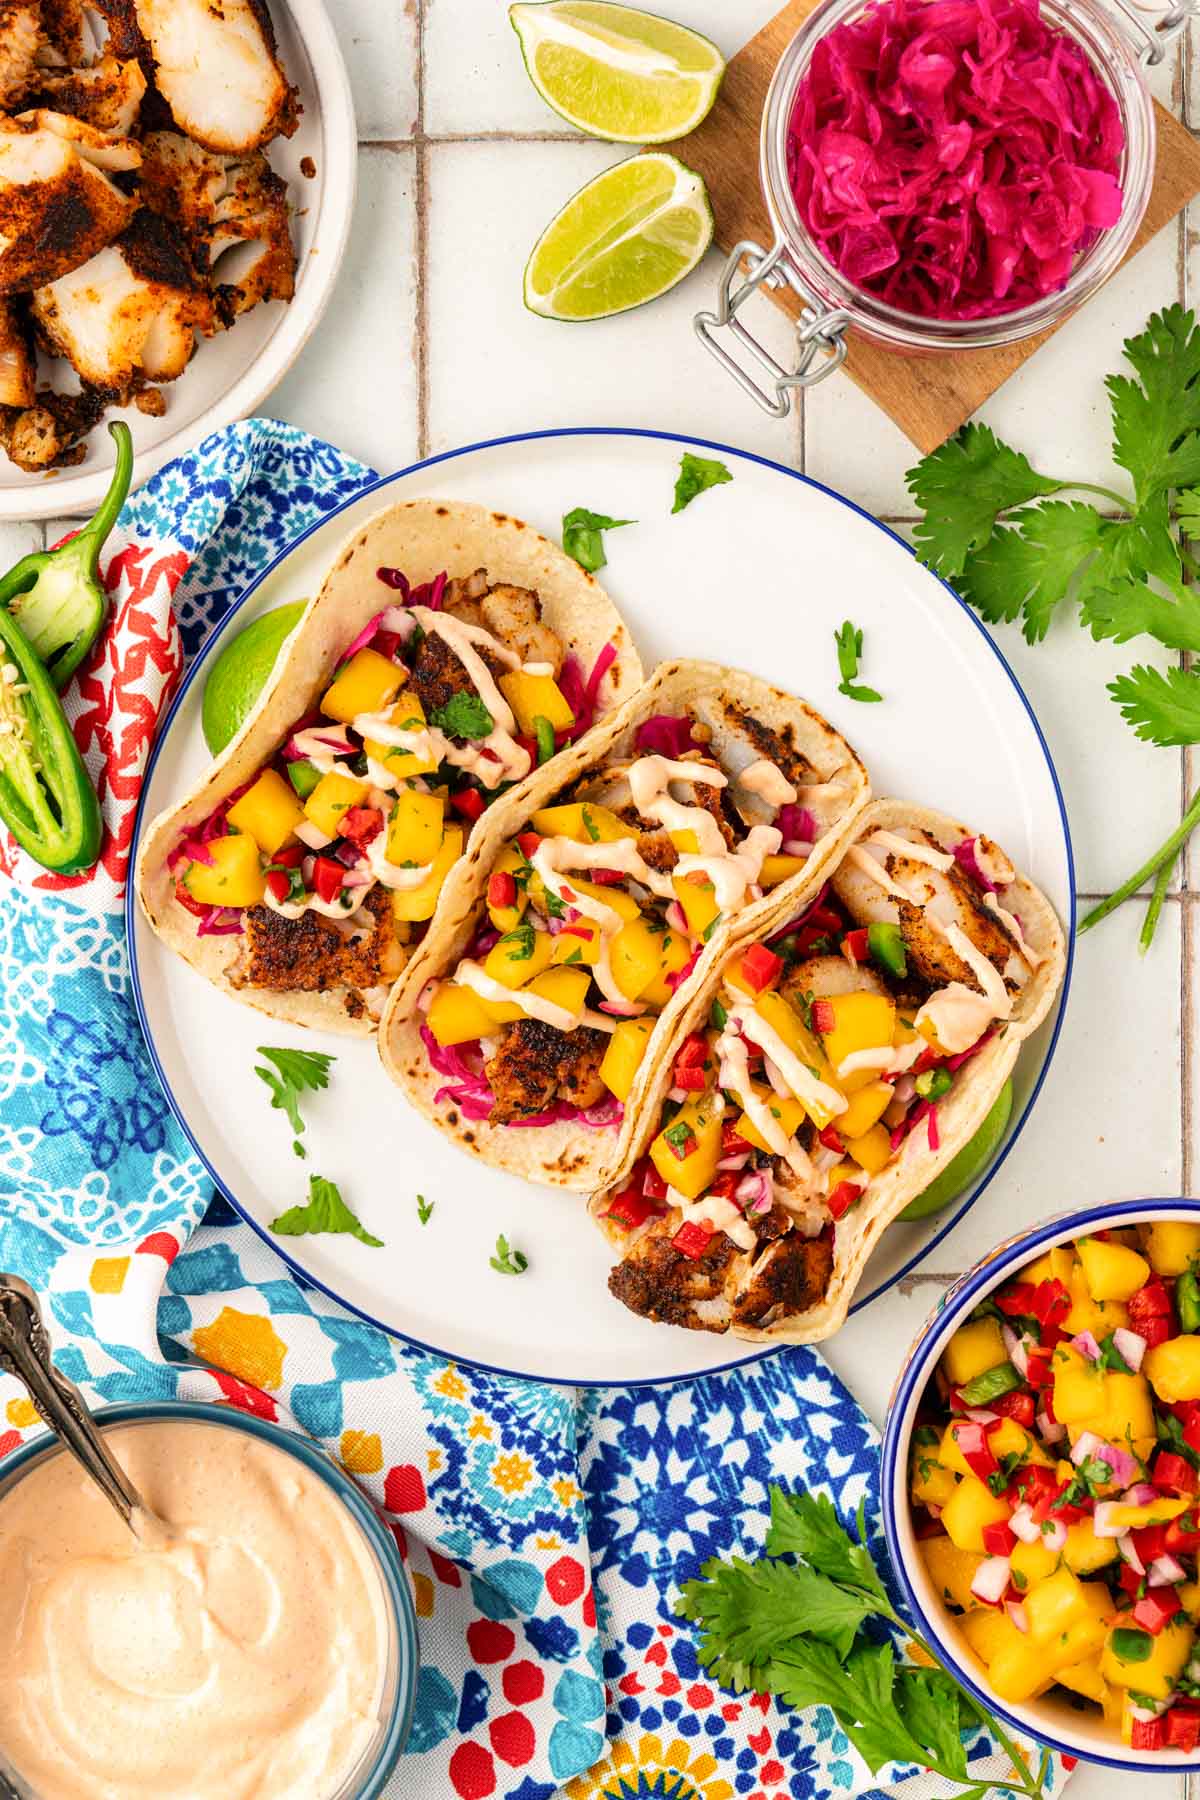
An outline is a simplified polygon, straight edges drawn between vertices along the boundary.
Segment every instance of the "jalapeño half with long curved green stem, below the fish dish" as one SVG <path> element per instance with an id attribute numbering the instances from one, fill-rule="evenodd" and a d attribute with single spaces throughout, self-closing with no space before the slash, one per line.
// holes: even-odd
<path id="1" fill-rule="evenodd" d="M 32 551 L 0 576 L 0 607 L 7 607 L 18 621 L 56 688 L 67 686 L 108 616 L 99 558 L 133 475 L 130 427 L 115 419 L 108 430 L 117 446 L 117 466 L 95 517 L 56 551 Z"/>

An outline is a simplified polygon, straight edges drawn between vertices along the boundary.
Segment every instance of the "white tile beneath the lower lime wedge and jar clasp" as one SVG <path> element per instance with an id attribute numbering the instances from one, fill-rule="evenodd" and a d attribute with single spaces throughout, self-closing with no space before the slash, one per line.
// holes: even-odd
<path id="1" fill-rule="evenodd" d="M 522 304 L 542 230 L 612 160 L 585 142 L 428 148 L 430 448 L 543 425 L 653 425 L 793 463 L 795 421 L 750 405 L 691 329 L 712 304 L 714 254 L 662 301 L 615 319 L 561 324 Z M 786 320 L 768 301 L 754 317 L 783 356 Z"/>

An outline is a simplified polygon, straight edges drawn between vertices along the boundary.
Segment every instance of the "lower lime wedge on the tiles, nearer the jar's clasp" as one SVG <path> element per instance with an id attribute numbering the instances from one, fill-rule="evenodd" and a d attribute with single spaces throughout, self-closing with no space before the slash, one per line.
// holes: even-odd
<path id="1" fill-rule="evenodd" d="M 712 243 L 703 180 L 649 151 L 604 169 L 567 202 L 525 263 L 525 306 L 543 319 L 608 319 L 691 274 Z"/>

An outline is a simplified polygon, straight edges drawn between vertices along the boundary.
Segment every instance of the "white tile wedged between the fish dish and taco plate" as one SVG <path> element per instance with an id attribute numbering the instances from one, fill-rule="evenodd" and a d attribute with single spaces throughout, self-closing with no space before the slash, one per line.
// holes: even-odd
<path id="1" fill-rule="evenodd" d="M 416 151 L 358 151 L 358 211 L 329 311 L 264 412 L 381 473 L 417 455 Z"/>

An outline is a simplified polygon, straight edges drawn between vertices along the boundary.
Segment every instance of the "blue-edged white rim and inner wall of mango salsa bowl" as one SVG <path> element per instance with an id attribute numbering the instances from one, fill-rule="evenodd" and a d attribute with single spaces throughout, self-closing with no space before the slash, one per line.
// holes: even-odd
<path id="1" fill-rule="evenodd" d="M 993 1712 L 997 1719 L 1013 1730 L 1036 1737 L 1038 1742 L 1049 1744 L 1051 1750 L 1060 1750 L 1069 1757 L 1099 1762 L 1110 1769 L 1171 1775 L 1178 1769 L 1200 1769 L 1200 1755 L 1187 1755 L 1182 1750 L 1160 1750 L 1148 1760 L 1144 1751 L 1130 1750 L 1123 1744 L 1112 1726 L 1096 1714 L 1076 1712 L 1069 1701 L 1052 1697 L 1051 1694 L 1033 1699 L 1024 1706 L 1018 1706 L 1015 1701 L 997 1699 L 988 1687 L 986 1670 L 975 1661 L 957 1627 L 955 1615 L 945 1607 L 925 1571 L 925 1562 L 912 1534 L 909 1505 L 909 1444 L 912 1440 L 918 1406 L 934 1375 L 941 1352 L 973 1307 L 1054 1244 L 1065 1244 L 1069 1238 L 1083 1237 L 1087 1231 L 1132 1226 L 1153 1219 L 1186 1219 L 1189 1224 L 1200 1224 L 1200 1202 L 1186 1199 L 1114 1201 L 1106 1206 L 1085 1206 L 1074 1213 L 1058 1213 L 1034 1231 L 1006 1238 L 982 1262 L 968 1269 L 946 1291 L 925 1321 L 912 1350 L 901 1364 L 887 1408 L 887 1426 L 883 1427 L 880 1490 L 887 1553 L 900 1577 L 912 1618 L 950 1674 L 963 1683 L 981 1706 L 986 1706 L 988 1712 Z"/>

